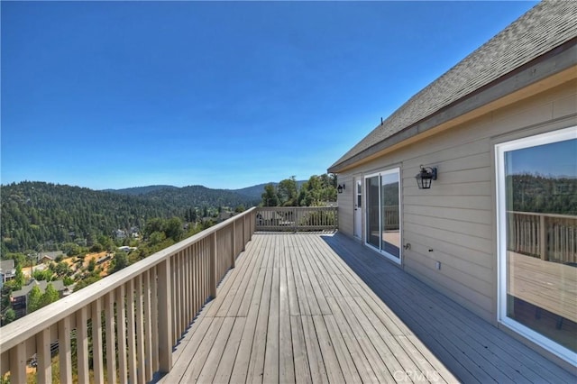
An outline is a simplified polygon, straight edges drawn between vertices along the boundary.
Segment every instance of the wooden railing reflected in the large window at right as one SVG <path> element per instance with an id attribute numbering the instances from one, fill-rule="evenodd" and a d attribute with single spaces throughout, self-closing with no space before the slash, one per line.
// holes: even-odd
<path id="1" fill-rule="evenodd" d="M 508 250 L 561 263 L 577 262 L 577 215 L 508 211 Z"/>

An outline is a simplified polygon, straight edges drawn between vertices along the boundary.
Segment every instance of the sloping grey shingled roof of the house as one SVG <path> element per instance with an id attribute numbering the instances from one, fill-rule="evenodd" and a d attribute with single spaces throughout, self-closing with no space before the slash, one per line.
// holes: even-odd
<path id="1" fill-rule="evenodd" d="M 397 133 L 463 101 L 485 87 L 499 83 L 500 79 L 555 48 L 563 44 L 574 45 L 577 41 L 576 20 L 577 1 L 539 3 L 411 97 L 337 160 L 328 169 L 329 172 L 337 173 L 344 167 L 366 158 L 368 149 L 377 146 L 379 151 L 386 149 L 390 144 L 398 142 L 389 140 Z M 577 61 L 577 58 L 573 61 Z M 391 143 L 388 145 L 389 141 Z"/>

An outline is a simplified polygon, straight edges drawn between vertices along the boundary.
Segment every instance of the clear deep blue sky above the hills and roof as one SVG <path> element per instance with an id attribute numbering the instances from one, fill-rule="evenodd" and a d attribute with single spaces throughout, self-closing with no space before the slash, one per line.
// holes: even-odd
<path id="1" fill-rule="evenodd" d="M 5 2 L 1 182 L 326 169 L 535 2 Z"/>

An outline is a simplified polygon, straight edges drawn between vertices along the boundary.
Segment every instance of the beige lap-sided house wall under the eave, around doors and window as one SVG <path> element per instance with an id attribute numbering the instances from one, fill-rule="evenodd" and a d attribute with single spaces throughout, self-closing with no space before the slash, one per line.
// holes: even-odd
<path id="1" fill-rule="evenodd" d="M 576 109 L 573 79 L 339 173 L 339 230 L 353 236 L 353 178 L 399 167 L 401 268 L 497 324 L 494 145 L 577 125 Z M 417 188 L 421 164 L 438 169 L 430 189 Z M 364 242 L 364 213 L 362 228 Z"/>

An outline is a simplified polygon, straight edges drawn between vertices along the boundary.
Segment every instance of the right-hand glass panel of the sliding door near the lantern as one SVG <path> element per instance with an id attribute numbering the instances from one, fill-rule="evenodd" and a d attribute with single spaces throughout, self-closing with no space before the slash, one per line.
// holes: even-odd
<path id="1" fill-rule="evenodd" d="M 398 172 L 381 176 L 382 250 L 398 258 L 400 255 L 400 224 L 398 220 Z"/>

